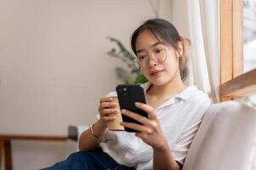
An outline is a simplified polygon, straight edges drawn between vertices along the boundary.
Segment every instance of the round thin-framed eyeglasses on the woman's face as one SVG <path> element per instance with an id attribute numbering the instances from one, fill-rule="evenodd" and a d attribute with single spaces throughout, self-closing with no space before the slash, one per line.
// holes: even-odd
<path id="1" fill-rule="evenodd" d="M 156 48 L 150 54 L 150 56 L 138 55 L 137 59 L 134 59 L 134 63 L 138 69 L 144 70 L 149 67 L 149 62 L 151 59 L 157 63 L 164 62 L 167 59 L 166 49 L 165 48 Z"/>

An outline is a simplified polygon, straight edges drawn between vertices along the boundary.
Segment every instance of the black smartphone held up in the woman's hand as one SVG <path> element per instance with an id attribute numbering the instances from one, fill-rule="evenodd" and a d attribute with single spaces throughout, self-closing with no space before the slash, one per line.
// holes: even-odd
<path id="1" fill-rule="evenodd" d="M 147 112 L 140 110 L 135 105 L 135 102 L 141 102 L 146 104 L 144 89 L 139 84 L 120 84 L 117 86 L 116 90 L 121 110 L 126 109 L 128 111 L 133 111 L 141 116 L 148 117 Z M 122 115 L 122 121 L 141 124 L 133 118 L 125 115 Z M 128 127 L 124 127 L 124 130 L 131 133 L 137 132 L 136 130 Z"/>

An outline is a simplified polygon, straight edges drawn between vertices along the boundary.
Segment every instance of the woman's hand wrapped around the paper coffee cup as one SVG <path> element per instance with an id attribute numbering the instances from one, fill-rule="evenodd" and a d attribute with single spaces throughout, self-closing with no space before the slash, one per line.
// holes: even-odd
<path id="1" fill-rule="evenodd" d="M 100 98 L 100 106 L 98 109 L 100 113 L 100 121 L 106 127 L 108 122 L 115 120 L 116 116 L 113 116 L 118 113 L 117 103 L 114 102 L 113 98 L 103 97 Z"/>

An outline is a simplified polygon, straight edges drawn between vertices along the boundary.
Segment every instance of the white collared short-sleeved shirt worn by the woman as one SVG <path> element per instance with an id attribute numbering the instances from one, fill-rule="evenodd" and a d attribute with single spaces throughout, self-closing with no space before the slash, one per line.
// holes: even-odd
<path id="1" fill-rule="evenodd" d="M 141 86 L 146 91 L 151 83 L 147 82 Z M 184 163 L 192 139 L 210 103 L 206 94 L 198 90 L 196 86 L 190 86 L 156 108 L 156 116 L 175 161 Z M 153 150 L 151 146 L 145 144 L 134 134 L 107 129 L 100 146 L 119 164 L 135 167 L 137 170 L 152 169 Z"/>

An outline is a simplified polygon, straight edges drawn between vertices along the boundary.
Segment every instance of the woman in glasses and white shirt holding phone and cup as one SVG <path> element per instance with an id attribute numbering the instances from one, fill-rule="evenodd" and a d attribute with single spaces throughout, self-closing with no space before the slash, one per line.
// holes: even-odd
<path id="1" fill-rule="evenodd" d="M 142 124 L 121 122 L 137 133 L 113 132 L 116 103 L 100 99 L 100 120 L 82 133 L 80 152 L 49 169 L 168 169 L 182 168 L 210 100 L 195 86 L 187 87 L 184 40 L 167 20 L 147 20 L 131 39 L 135 64 L 149 82 L 143 84 L 147 105 L 135 105 L 149 115 L 122 111 Z M 98 147 L 100 146 L 100 147 Z"/>

